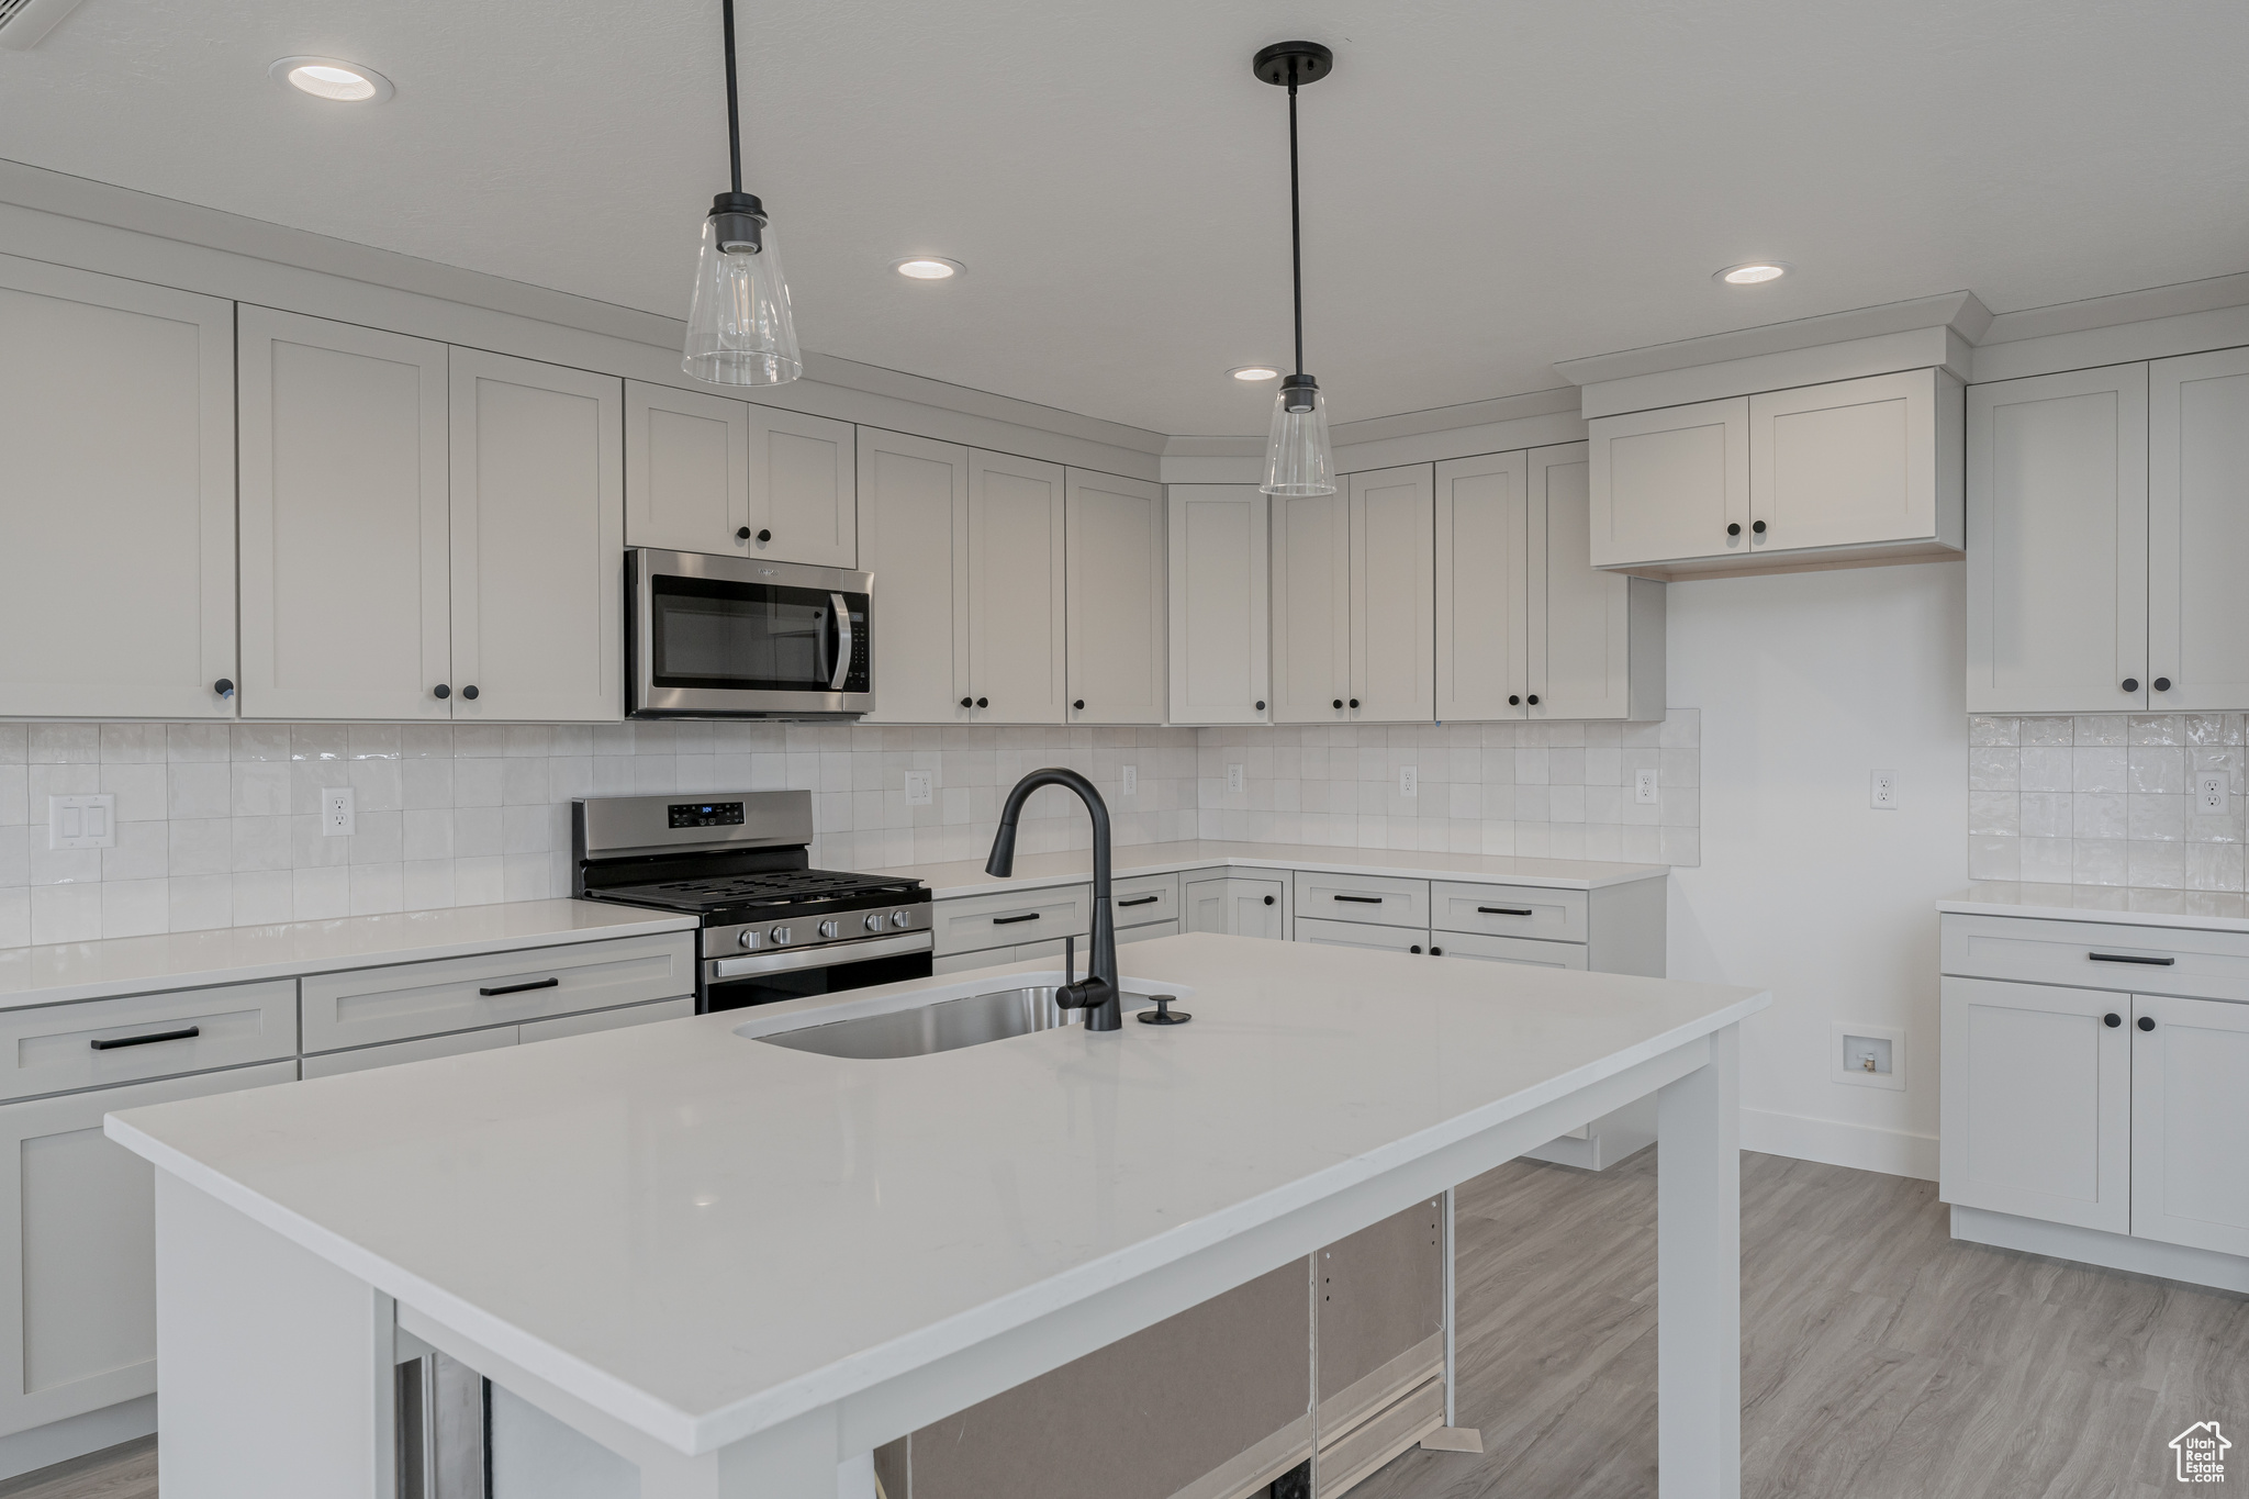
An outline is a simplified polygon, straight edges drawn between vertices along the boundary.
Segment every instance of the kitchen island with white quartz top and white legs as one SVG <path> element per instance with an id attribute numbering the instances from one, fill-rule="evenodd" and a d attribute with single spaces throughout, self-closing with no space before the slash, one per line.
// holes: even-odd
<path id="1" fill-rule="evenodd" d="M 830 1499 L 1651 1092 L 1662 1492 L 1738 1492 L 1736 1029 L 1765 993 L 1217 935 L 1124 978 L 1194 1020 L 758 1038 L 1035 982 L 987 971 L 112 1115 L 157 1169 L 166 1499 L 389 1499 L 409 1339 L 643 1499 Z"/>

